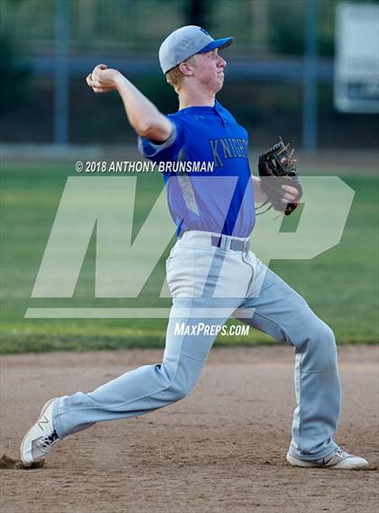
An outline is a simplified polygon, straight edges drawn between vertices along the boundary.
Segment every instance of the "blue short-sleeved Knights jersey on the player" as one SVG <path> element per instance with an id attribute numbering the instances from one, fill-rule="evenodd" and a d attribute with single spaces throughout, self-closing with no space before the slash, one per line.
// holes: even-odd
<path id="1" fill-rule="evenodd" d="M 141 137 L 138 146 L 165 169 L 177 234 L 202 230 L 248 237 L 254 228 L 254 191 L 245 128 L 218 102 L 181 109 L 168 118 L 173 130 L 166 142 Z"/>

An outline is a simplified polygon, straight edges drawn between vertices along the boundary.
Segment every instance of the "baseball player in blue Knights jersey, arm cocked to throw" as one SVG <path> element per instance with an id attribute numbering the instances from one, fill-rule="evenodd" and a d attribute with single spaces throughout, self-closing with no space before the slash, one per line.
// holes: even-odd
<path id="1" fill-rule="evenodd" d="M 118 91 L 144 157 L 163 163 L 211 162 L 213 171 L 164 173 L 178 241 L 167 260 L 172 307 L 162 362 L 128 371 L 92 392 L 49 400 L 23 438 L 24 463 L 43 459 L 57 442 L 97 422 L 140 416 L 185 398 L 216 338 L 212 328 L 236 316 L 294 347 L 297 408 L 288 462 L 333 469 L 368 464 L 333 440 L 340 383 L 331 329 L 249 251 L 254 199 L 262 203 L 270 197 L 262 180 L 251 175 L 245 128 L 215 99 L 226 68 L 218 50 L 232 41 L 214 40 L 189 25 L 162 42 L 162 72 L 179 96 L 173 115 L 162 115 L 116 69 L 99 64 L 87 77 L 95 93 Z M 300 199 L 296 180 L 275 190 L 283 211 Z M 195 330 L 196 335 L 192 329 L 176 330 L 178 324 L 193 328 L 200 322 L 209 329 Z"/>

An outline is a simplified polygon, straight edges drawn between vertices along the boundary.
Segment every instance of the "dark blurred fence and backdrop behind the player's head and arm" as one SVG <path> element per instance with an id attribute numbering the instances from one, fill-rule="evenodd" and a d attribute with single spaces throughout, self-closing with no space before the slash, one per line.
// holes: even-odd
<path id="1" fill-rule="evenodd" d="M 333 105 L 337 4 L 1 0 L 1 142 L 134 142 L 116 94 L 96 97 L 84 78 L 106 62 L 162 112 L 173 112 L 177 99 L 162 77 L 158 48 L 172 30 L 195 23 L 213 37 L 235 36 L 224 52 L 218 97 L 259 146 L 282 134 L 310 151 L 377 148 L 378 116 L 343 114 Z"/>

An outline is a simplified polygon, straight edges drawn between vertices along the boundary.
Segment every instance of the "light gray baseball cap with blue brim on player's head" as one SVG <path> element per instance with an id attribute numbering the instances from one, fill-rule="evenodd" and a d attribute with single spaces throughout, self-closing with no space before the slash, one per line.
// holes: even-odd
<path id="1" fill-rule="evenodd" d="M 197 25 L 180 27 L 162 42 L 159 61 L 163 73 L 167 73 L 196 53 L 205 53 L 216 48 L 226 48 L 233 42 L 232 37 L 213 39 L 207 31 Z"/>

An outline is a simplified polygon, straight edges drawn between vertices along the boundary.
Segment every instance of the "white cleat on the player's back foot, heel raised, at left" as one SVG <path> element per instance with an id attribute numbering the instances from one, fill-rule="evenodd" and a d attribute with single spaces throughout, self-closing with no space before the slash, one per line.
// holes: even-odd
<path id="1" fill-rule="evenodd" d="M 53 445 L 60 439 L 52 423 L 52 408 L 56 398 L 50 399 L 42 408 L 37 422 L 23 437 L 20 447 L 23 463 L 34 463 L 43 460 L 50 453 Z"/>

